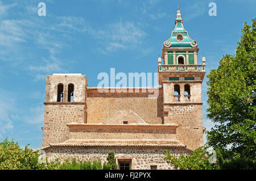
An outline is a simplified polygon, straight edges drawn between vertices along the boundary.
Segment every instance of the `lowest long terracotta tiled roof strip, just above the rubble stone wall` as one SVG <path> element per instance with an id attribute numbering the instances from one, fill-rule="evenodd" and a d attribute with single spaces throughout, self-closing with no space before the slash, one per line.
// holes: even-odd
<path id="1" fill-rule="evenodd" d="M 50 146 L 167 146 L 167 147 L 186 147 L 177 140 L 80 140 L 71 139 L 59 144 L 50 144 Z"/>

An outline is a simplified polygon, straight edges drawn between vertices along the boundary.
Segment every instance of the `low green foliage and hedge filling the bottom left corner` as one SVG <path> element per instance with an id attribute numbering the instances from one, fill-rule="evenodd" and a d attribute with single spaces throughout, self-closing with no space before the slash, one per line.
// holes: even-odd
<path id="1" fill-rule="evenodd" d="M 75 158 L 60 159 L 39 163 L 38 152 L 25 146 L 20 148 L 18 142 L 5 138 L 0 142 L 0 170 L 102 170 L 101 161 L 77 161 Z M 109 165 L 108 165 L 109 166 Z"/>

